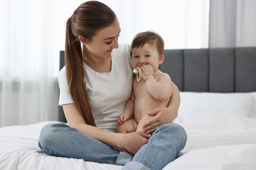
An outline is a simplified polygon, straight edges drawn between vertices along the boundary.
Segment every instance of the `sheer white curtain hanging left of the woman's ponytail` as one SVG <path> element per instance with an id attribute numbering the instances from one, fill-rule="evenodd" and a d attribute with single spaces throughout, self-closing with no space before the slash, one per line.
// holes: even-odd
<path id="1" fill-rule="evenodd" d="M 51 0 L 3 1 L 0 126 L 56 120 Z"/>

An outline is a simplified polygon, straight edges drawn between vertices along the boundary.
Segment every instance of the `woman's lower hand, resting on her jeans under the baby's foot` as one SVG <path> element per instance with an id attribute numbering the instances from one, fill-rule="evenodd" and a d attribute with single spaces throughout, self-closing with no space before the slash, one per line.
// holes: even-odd
<path id="1" fill-rule="evenodd" d="M 130 152 L 133 155 L 135 155 L 138 152 L 141 146 L 148 143 L 148 139 L 151 136 L 149 134 L 142 133 L 141 131 L 117 134 L 119 134 L 119 139 L 121 139 L 121 141 L 118 142 L 119 146 L 117 147 L 123 148 L 124 150 L 127 150 L 127 152 Z"/>

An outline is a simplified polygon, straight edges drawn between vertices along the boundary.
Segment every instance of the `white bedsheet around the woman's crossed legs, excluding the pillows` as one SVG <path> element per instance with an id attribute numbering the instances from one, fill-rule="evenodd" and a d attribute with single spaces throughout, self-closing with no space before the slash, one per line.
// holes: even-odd
<path id="1" fill-rule="evenodd" d="M 253 119 L 251 121 L 255 122 Z M 41 127 L 0 128 L 0 169 L 121 169 L 73 158 L 47 156 L 37 146 Z M 250 129 L 186 129 L 188 142 L 182 156 L 166 169 L 256 169 L 256 127 Z"/>

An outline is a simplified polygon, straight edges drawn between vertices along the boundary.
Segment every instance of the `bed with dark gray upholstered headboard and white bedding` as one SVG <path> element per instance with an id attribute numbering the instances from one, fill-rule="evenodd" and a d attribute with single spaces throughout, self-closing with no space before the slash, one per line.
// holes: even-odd
<path id="1" fill-rule="evenodd" d="M 163 169 L 256 169 L 256 47 L 165 50 L 160 69 L 181 91 L 175 123 L 188 133 Z M 42 153 L 37 141 L 48 123 L 1 127 L 0 169 L 121 169 Z"/>

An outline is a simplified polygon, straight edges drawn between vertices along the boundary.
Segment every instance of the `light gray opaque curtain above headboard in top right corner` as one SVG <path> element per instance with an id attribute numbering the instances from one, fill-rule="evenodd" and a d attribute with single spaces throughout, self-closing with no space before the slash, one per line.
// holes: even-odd
<path id="1" fill-rule="evenodd" d="M 210 1 L 209 47 L 256 46 L 256 1 Z"/>

